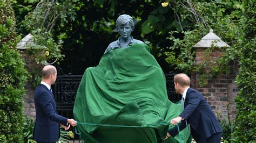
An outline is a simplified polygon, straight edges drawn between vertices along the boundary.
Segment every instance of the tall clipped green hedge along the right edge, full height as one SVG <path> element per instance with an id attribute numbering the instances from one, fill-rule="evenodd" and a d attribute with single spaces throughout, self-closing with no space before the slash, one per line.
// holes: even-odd
<path id="1" fill-rule="evenodd" d="M 240 19 L 245 37 L 240 39 L 239 73 L 236 78 L 239 89 L 235 98 L 237 117 L 232 134 L 234 142 L 256 141 L 256 38 L 255 38 L 255 1 L 246 1 Z"/>

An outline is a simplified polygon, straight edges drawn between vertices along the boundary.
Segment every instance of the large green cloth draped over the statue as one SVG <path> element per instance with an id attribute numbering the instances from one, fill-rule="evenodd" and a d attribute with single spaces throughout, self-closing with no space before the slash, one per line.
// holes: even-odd
<path id="1" fill-rule="evenodd" d="M 97 67 L 85 70 L 73 109 L 80 123 L 141 126 L 109 127 L 78 124 L 84 142 L 161 142 L 169 123 L 182 111 L 167 97 L 166 81 L 145 44 L 114 48 Z M 170 128 L 174 127 L 170 125 Z M 181 132 L 183 142 L 189 137 Z M 179 142 L 179 134 L 164 142 Z"/>

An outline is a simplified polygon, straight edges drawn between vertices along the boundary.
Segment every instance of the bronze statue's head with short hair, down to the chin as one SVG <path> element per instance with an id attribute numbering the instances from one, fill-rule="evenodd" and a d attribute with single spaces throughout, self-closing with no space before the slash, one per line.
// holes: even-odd
<path id="1" fill-rule="evenodd" d="M 116 21 L 116 28 L 120 37 L 129 38 L 134 30 L 134 22 L 129 15 L 120 15 Z"/>

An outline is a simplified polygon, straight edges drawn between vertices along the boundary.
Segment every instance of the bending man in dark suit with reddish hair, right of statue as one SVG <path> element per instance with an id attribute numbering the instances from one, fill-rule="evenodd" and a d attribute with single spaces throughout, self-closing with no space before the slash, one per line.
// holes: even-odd
<path id="1" fill-rule="evenodd" d="M 182 95 L 183 112 L 170 121 L 171 124 L 179 124 L 180 131 L 187 124 L 190 124 L 192 137 L 197 142 L 220 142 L 222 129 L 217 117 L 214 115 L 210 105 L 203 95 L 193 88 L 190 88 L 190 77 L 186 74 L 174 76 L 175 90 Z M 178 127 L 168 131 L 166 138 L 175 137 L 178 134 Z"/>

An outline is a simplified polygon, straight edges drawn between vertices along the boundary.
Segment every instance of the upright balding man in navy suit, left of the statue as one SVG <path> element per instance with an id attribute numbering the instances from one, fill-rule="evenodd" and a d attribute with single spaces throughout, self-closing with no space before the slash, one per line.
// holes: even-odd
<path id="1" fill-rule="evenodd" d="M 45 66 L 42 70 L 41 84 L 35 90 L 36 123 L 33 139 L 37 142 L 56 142 L 60 137 L 59 124 L 65 130 L 68 130 L 70 125 L 77 124 L 74 119 L 57 114 L 55 98 L 51 90 L 51 84 L 55 83 L 56 78 L 56 68 Z"/>

